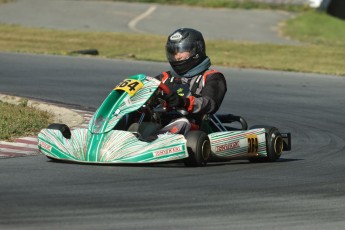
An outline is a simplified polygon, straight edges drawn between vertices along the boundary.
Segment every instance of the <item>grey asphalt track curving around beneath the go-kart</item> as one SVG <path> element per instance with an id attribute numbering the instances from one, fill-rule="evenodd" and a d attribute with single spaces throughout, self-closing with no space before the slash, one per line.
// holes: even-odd
<path id="1" fill-rule="evenodd" d="M 0 53 L 0 92 L 96 108 L 165 64 Z M 221 112 L 292 132 L 276 163 L 185 168 L 0 159 L 1 229 L 343 229 L 345 79 L 217 68 Z"/>

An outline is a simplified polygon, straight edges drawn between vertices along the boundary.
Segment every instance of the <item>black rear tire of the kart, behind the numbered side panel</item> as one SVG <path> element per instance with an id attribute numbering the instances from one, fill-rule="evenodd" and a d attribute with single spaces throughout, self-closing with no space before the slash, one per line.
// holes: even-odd
<path id="1" fill-rule="evenodd" d="M 283 137 L 276 127 L 267 125 L 255 125 L 250 129 L 264 128 L 266 132 L 267 157 L 250 157 L 250 162 L 274 162 L 277 161 L 283 152 Z"/>

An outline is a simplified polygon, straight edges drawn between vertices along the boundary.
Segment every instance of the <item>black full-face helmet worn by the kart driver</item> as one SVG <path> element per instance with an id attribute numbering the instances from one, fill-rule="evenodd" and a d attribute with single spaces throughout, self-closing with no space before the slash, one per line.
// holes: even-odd
<path id="1" fill-rule="evenodd" d="M 179 75 L 187 73 L 206 58 L 202 34 L 190 28 L 181 28 L 170 34 L 165 50 L 172 69 Z M 181 52 L 189 52 L 190 55 L 187 59 L 176 60 L 175 55 Z"/>

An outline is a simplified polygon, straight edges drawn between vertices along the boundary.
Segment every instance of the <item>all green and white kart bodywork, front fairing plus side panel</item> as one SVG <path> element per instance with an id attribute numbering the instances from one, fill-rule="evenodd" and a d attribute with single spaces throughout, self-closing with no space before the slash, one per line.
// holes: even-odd
<path id="1" fill-rule="evenodd" d="M 76 128 L 66 137 L 61 130 L 42 129 L 39 151 L 49 158 L 81 163 L 157 163 L 189 157 L 185 136 L 159 135 L 148 142 L 130 131 L 115 130 L 118 122 L 144 106 L 161 82 L 144 74 L 118 84 L 93 115 L 88 128 Z M 265 129 L 208 133 L 210 156 L 222 159 L 265 157 Z"/>

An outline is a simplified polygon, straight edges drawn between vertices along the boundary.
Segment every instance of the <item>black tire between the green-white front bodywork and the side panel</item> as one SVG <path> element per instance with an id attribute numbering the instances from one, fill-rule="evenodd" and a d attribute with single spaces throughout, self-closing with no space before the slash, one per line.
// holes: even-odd
<path id="1" fill-rule="evenodd" d="M 187 139 L 188 158 L 184 164 L 188 167 L 201 167 L 207 164 L 211 154 L 210 139 L 203 131 L 189 131 Z"/>

